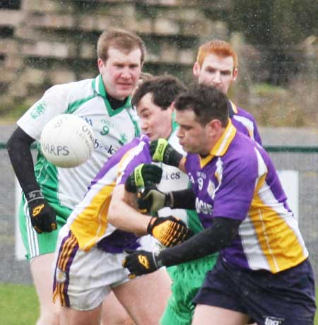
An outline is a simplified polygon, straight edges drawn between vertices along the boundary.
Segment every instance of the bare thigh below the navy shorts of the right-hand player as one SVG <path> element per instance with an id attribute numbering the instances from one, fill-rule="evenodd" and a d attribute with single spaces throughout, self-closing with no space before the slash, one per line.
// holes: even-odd
<path id="1" fill-rule="evenodd" d="M 244 325 L 249 321 L 247 314 L 208 305 L 196 305 L 192 325 Z"/>

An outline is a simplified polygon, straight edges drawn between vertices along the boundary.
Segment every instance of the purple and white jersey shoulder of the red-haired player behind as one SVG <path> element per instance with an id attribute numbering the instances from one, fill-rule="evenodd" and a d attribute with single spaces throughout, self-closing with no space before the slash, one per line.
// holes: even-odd
<path id="1" fill-rule="evenodd" d="M 229 116 L 235 128 L 261 145 L 261 136 L 252 114 L 228 101 Z"/>

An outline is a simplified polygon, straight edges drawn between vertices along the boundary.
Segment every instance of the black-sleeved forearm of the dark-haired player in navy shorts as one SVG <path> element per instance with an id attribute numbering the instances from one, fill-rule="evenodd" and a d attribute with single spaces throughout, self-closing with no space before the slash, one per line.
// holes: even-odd
<path id="1" fill-rule="evenodd" d="M 191 237 L 189 240 L 163 250 L 158 255 L 160 264 L 172 266 L 218 252 L 230 246 L 237 235 L 240 221 L 215 218 L 213 225 Z"/>

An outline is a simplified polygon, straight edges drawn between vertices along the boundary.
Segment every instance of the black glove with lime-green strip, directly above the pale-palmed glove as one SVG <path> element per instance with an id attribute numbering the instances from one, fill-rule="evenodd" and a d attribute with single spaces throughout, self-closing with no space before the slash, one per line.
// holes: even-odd
<path id="1" fill-rule="evenodd" d="M 140 164 L 134 172 L 126 179 L 125 189 L 131 193 L 136 193 L 138 188 L 144 188 L 160 183 L 163 170 L 157 165 Z"/>

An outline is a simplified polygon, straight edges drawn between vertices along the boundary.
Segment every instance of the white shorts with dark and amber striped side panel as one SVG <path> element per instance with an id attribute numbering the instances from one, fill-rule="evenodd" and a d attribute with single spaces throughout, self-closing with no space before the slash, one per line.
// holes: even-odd
<path id="1" fill-rule="evenodd" d="M 114 286 L 129 280 L 129 271 L 122 267 L 125 256 L 97 247 L 84 252 L 68 225 L 64 225 L 55 256 L 54 301 L 59 296 L 62 306 L 76 310 L 98 307 Z"/>

